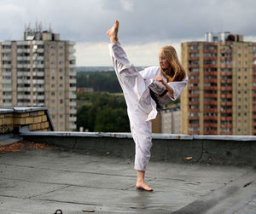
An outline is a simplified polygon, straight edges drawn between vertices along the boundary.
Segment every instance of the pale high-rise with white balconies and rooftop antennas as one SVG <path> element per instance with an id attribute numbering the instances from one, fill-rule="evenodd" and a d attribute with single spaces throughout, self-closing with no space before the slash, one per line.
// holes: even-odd
<path id="1" fill-rule="evenodd" d="M 74 42 L 27 27 L 0 43 L 0 106 L 46 106 L 55 130 L 76 129 Z"/>

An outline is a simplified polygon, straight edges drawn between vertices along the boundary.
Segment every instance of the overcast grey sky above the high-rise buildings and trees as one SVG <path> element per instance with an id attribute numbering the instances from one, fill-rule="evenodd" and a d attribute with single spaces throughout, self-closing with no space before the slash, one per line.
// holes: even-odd
<path id="1" fill-rule="evenodd" d="M 205 32 L 256 41 L 255 0 L 0 0 L 0 41 L 20 40 L 25 25 L 76 42 L 77 66 L 111 66 L 105 32 L 119 20 L 119 40 L 136 66 L 157 66 L 158 50 L 204 39 Z"/>

